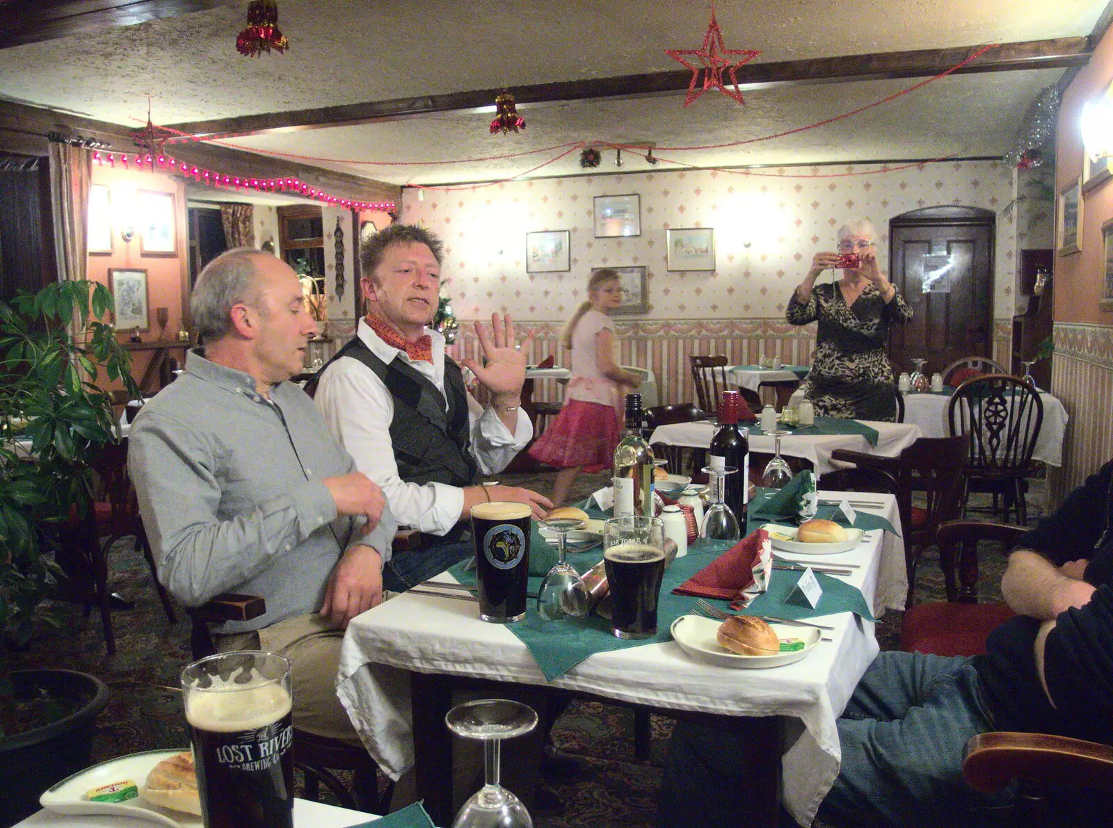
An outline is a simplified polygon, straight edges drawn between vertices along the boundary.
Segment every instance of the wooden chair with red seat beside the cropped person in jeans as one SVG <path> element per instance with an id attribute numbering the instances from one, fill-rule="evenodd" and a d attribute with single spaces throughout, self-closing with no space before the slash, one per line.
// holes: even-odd
<path id="1" fill-rule="evenodd" d="M 1015 613 L 1003 601 L 977 602 L 977 548 L 1003 544 L 1007 553 L 1027 530 L 1004 523 L 947 521 L 935 533 L 946 601 L 909 607 L 900 625 L 900 649 L 935 655 L 981 655 L 991 632 Z"/>

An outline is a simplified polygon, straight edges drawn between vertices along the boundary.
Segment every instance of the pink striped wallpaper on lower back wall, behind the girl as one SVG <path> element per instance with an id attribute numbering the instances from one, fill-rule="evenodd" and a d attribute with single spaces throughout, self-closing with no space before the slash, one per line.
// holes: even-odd
<path id="1" fill-rule="evenodd" d="M 792 365 L 811 364 L 815 349 L 815 325 L 796 327 L 779 318 L 758 319 L 614 319 L 623 365 L 649 368 L 657 377 L 662 405 L 696 402 L 688 357 L 691 354 L 722 354 L 728 364 L 756 364 L 762 354 Z M 490 323 L 487 323 L 490 324 Z M 552 354 L 558 365 L 571 365 L 571 358 L 560 344 L 563 322 L 530 322 L 520 333 L 534 333 L 530 363 L 539 363 Z M 472 322 L 460 322 L 460 336 L 449 348 L 457 361 L 477 358 L 479 339 Z M 552 379 L 539 381 L 534 400 L 560 401 L 563 386 Z"/>

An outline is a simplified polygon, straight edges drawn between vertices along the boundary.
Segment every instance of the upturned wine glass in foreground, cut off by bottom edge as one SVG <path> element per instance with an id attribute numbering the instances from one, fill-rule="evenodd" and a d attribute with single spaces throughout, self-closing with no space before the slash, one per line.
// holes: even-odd
<path id="1" fill-rule="evenodd" d="M 499 783 L 502 740 L 536 727 L 533 708 L 509 699 L 480 699 L 452 708 L 444 723 L 456 736 L 483 740 L 484 785 L 464 802 L 452 828 L 533 828 L 522 801 Z"/>

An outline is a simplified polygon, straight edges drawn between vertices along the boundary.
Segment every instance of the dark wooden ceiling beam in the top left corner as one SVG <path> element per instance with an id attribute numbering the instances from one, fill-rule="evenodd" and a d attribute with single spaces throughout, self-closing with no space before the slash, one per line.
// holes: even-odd
<path id="1" fill-rule="evenodd" d="M 235 0 L 0 0 L 0 49 L 235 4 Z"/>

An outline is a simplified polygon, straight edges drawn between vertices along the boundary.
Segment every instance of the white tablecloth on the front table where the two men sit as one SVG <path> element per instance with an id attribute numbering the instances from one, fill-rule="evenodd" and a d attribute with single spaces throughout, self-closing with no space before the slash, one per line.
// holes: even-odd
<path id="1" fill-rule="evenodd" d="M 877 512 L 899 529 L 892 495 L 865 496 L 883 503 Z M 860 564 L 847 580 L 869 605 L 904 605 L 898 539 L 875 530 L 857 549 L 823 561 Z M 883 584 L 885 598 L 878 592 Z M 835 720 L 878 650 L 874 624 L 850 613 L 828 615 L 820 623 L 835 627 L 825 633 L 834 641 L 820 642 L 795 664 L 730 670 L 695 661 L 670 641 L 595 653 L 551 684 L 673 710 L 800 719 L 805 730 L 784 757 L 782 782 L 786 806 L 801 825 L 809 825 L 838 775 Z M 413 765 L 403 672 L 410 670 L 546 683 L 525 644 L 504 625 L 480 621 L 474 603 L 406 593 L 363 613 L 344 637 L 337 692 L 371 755 L 394 778 Z"/>

